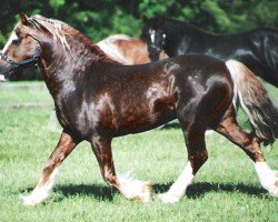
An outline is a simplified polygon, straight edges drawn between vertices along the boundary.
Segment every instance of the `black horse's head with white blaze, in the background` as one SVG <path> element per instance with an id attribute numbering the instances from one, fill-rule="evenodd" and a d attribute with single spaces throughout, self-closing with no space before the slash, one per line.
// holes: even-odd
<path id="1" fill-rule="evenodd" d="M 162 30 L 163 18 L 143 19 L 142 40 L 147 42 L 151 61 L 159 60 L 163 50 L 166 33 Z"/>

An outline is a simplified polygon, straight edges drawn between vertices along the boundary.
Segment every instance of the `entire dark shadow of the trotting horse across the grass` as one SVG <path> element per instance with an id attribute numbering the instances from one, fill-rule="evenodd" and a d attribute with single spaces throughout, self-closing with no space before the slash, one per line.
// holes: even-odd
<path id="1" fill-rule="evenodd" d="M 156 194 L 163 193 L 169 190 L 172 183 L 163 183 L 163 184 L 152 184 L 152 191 Z M 22 192 L 30 193 L 32 188 L 28 188 Z M 115 188 L 106 186 L 106 185 L 57 185 L 53 190 L 58 195 L 54 198 L 54 202 L 60 202 L 66 198 L 71 198 L 75 195 L 80 196 L 93 196 L 99 201 L 113 201 L 115 195 L 118 191 Z M 187 198 L 189 199 L 198 199 L 209 192 L 228 192 L 228 193 L 244 193 L 248 195 L 255 195 L 260 199 L 268 198 L 267 191 L 261 188 L 256 188 L 254 185 L 247 185 L 242 183 L 238 184 L 225 184 L 225 183 L 206 183 L 199 182 L 189 185 L 186 192 Z M 271 199 L 271 196 L 269 196 Z"/>

